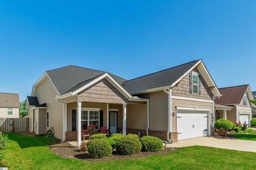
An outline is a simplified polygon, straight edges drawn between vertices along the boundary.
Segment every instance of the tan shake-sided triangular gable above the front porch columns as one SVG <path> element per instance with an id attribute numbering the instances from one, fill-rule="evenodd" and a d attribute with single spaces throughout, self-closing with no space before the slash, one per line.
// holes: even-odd
<path id="1" fill-rule="evenodd" d="M 78 100 L 102 103 L 128 103 L 129 101 L 108 80 L 103 79 L 78 95 Z"/>

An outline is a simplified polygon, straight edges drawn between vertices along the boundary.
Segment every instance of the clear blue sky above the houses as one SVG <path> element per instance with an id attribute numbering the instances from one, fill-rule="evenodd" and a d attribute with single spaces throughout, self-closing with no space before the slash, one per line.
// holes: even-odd
<path id="1" fill-rule="evenodd" d="M 203 60 L 218 87 L 256 90 L 256 1 L 0 1 L 0 91 L 31 94 L 78 65 L 132 79 Z M 254 73 L 253 73 L 254 72 Z"/>

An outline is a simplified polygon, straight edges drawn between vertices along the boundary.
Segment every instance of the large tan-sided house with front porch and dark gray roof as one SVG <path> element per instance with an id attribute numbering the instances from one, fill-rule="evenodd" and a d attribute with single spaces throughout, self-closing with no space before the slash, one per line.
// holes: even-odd
<path id="1" fill-rule="evenodd" d="M 65 66 L 46 71 L 27 97 L 29 130 L 53 127 L 62 141 L 81 142 L 81 127 L 153 135 L 165 141 L 211 135 L 220 92 L 202 60 L 125 80 L 108 72 Z"/>

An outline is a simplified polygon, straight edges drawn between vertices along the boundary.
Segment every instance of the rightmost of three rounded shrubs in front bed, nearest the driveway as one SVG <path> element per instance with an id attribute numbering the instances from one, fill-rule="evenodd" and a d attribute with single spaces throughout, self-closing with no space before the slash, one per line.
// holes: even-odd
<path id="1" fill-rule="evenodd" d="M 157 137 L 142 137 L 140 138 L 142 151 L 155 152 L 163 150 L 163 141 Z"/>

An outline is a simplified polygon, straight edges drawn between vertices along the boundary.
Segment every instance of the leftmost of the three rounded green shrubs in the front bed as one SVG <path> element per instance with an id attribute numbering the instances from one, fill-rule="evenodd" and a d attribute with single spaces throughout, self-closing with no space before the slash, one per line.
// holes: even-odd
<path id="1" fill-rule="evenodd" d="M 89 140 L 87 150 L 92 158 L 102 158 L 112 154 L 111 145 L 104 139 Z"/>

